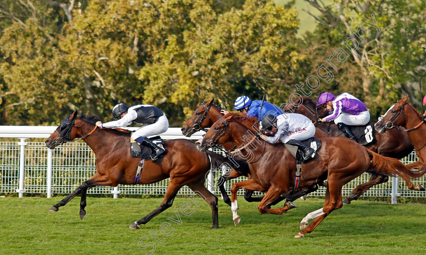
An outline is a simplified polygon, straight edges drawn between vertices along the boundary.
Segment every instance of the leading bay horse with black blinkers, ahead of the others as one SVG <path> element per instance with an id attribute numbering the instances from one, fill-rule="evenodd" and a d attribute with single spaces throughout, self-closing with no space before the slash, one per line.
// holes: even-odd
<path id="1" fill-rule="evenodd" d="M 45 141 L 49 149 L 75 138 L 83 139 L 96 156 L 96 173 L 78 187 L 74 192 L 53 205 L 50 211 L 58 211 L 78 194 L 81 194 L 80 218 L 86 215 L 86 192 L 95 186 L 112 186 L 119 184 L 134 184 L 136 169 L 140 158 L 130 155 L 130 133 L 119 132 L 115 129 L 99 129 L 95 125 L 97 117 L 80 118 L 77 111 L 66 117 L 58 128 Z M 169 208 L 177 192 L 187 185 L 195 194 L 202 197 L 211 207 L 212 227 L 219 228 L 218 198 L 205 187 L 205 174 L 210 165 L 221 165 L 224 157 L 207 151 L 202 153 L 197 146 L 186 139 L 165 141 L 164 147 L 168 153 L 154 162 L 147 160 L 137 184 L 153 184 L 170 178 L 164 200 L 160 206 L 141 220 L 134 222 L 130 228 L 137 229 L 139 225 L 148 223 L 153 217 Z"/>

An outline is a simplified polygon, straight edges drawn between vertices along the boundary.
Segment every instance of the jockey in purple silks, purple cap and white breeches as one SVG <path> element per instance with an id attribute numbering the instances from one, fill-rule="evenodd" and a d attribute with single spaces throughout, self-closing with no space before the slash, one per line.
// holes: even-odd
<path id="1" fill-rule="evenodd" d="M 333 111 L 329 116 L 321 121 L 332 121 L 342 130 L 351 140 L 357 141 L 357 138 L 348 128 L 349 126 L 364 126 L 370 121 L 370 112 L 360 99 L 343 93 L 334 97 L 333 94 L 325 92 L 318 98 L 318 104 L 328 111 Z"/>

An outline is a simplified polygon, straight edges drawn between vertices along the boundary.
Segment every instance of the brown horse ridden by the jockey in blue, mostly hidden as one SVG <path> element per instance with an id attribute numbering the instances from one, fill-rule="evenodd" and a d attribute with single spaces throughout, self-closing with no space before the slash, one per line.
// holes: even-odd
<path id="1" fill-rule="evenodd" d="M 212 98 L 208 101 L 201 102 L 200 106 L 197 107 L 195 112 L 191 115 L 191 117 L 186 121 L 184 126 L 181 128 L 182 134 L 184 134 L 187 137 L 190 137 L 192 134 L 194 134 L 195 132 L 199 130 L 207 131 L 206 129 L 207 127 L 210 127 L 216 121 L 218 121 L 220 118 L 224 116 L 224 114 L 221 113 L 222 109 L 213 103 L 214 100 L 215 98 Z M 317 129 L 315 133 L 315 137 L 317 138 L 327 137 L 327 134 Z M 222 144 L 222 146 L 228 151 L 233 150 L 236 147 L 234 142 L 226 142 Z M 239 155 L 235 155 L 234 159 L 238 160 L 238 163 L 241 166 L 239 168 L 234 169 L 232 168 L 232 165 L 231 165 L 231 169 L 218 179 L 218 186 L 219 186 L 219 190 L 221 191 L 223 200 L 229 206 L 231 206 L 231 199 L 229 198 L 225 190 L 226 181 L 240 177 L 240 176 L 246 176 L 247 178 L 251 178 L 250 168 L 248 168 L 247 163 L 243 162 L 245 161 L 245 159 L 239 157 Z M 270 205 L 275 205 L 286 198 L 288 202 L 293 202 L 294 200 L 312 191 L 314 190 L 308 189 L 308 190 L 304 190 L 300 192 L 292 191 L 290 194 L 283 194 Z M 247 202 L 262 201 L 263 197 L 252 197 L 252 195 L 253 195 L 253 191 L 246 190 L 244 193 L 244 199 Z"/>

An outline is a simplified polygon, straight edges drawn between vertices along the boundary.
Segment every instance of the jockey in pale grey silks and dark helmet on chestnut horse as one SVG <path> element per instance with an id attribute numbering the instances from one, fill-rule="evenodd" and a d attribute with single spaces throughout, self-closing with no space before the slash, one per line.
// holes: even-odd
<path id="1" fill-rule="evenodd" d="M 260 137 L 269 143 L 281 140 L 282 143 L 297 146 L 303 152 L 303 159 L 312 156 L 314 150 L 300 141 L 315 135 L 315 126 L 312 121 L 301 114 L 265 115 L 261 122 L 261 130 L 269 131 L 273 136 L 261 135 Z"/>

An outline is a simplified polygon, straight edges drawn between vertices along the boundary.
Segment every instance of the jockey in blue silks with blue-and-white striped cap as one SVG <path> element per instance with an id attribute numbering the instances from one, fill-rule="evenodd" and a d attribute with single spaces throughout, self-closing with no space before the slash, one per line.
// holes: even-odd
<path id="1" fill-rule="evenodd" d="M 262 112 L 260 113 L 260 118 L 259 118 L 259 111 L 261 106 L 262 106 L 262 100 L 252 101 L 250 98 L 248 98 L 248 96 L 240 96 L 237 98 L 237 100 L 235 100 L 233 110 L 237 110 L 241 113 L 245 113 L 247 116 L 256 117 L 260 121 L 263 119 L 263 116 L 268 114 L 272 114 L 275 117 L 283 114 L 283 112 L 278 106 L 276 106 L 275 104 L 269 103 L 267 101 L 264 101 Z M 228 114 L 229 112 L 222 110 L 221 113 Z"/>

